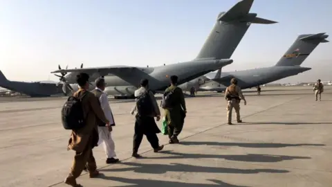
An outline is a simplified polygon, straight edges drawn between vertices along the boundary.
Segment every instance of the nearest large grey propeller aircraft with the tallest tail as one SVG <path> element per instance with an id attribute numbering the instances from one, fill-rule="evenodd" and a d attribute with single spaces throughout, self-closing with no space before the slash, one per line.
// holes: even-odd
<path id="1" fill-rule="evenodd" d="M 59 69 L 52 73 L 58 75 L 64 83 L 64 91 L 68 84 L 75 82 L 78 73 L 91 75 L 94 80 L 104 77 L 107 82 L 105 91 L 113 96 L 133 96 L 142 78 L 149 80 L 149 88 L 155 92 L 164 91 L 169 86 L 169 76 L 177 75 L 178 83 L 183 84 L 206 73 L 221 69 L 231 64 L 232 53 L 245 35 L 250 24 L 275 24 L 276 21 L 257 17 L 250 13 L 253 0 L 243 0 L 236 3 L 227 12 L 219 13 L 212 32 L 194 60 L 156 67 L 136 66 L 106 66 L 81 69 Z M 71 73 L 68 73 L 71 72 Z M 67 74 L 68 73 L 68 74 Z M 112 74 L 112 75 L 110 75 Z M 120 96 L 119 96 L 120 95 Z"/>

